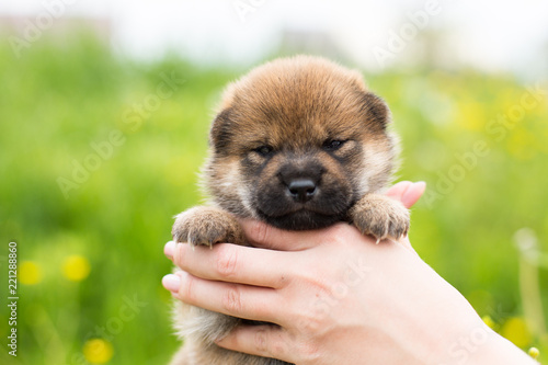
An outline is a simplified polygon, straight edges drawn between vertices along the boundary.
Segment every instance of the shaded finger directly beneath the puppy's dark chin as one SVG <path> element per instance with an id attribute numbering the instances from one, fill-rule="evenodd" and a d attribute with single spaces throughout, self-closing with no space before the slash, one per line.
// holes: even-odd
<path id="1" fill-rule="evenodd" d="M 302 251 L 324 240 L 326 229 L 288 231 L 254 219 L 240 219 L 240 225 L 252 246 L 270 250 Z"/>

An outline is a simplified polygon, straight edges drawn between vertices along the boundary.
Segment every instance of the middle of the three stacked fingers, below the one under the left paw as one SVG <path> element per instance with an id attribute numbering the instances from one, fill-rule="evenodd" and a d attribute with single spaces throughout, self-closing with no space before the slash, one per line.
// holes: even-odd
<path id="1" fill-rule="evenodd" d="M 208 281 L 184 271 L 165 275 L 162 283 L 175 298 L 192 306 L 249 320 L 278 321 L 282 306 L 272 288 Z"/>

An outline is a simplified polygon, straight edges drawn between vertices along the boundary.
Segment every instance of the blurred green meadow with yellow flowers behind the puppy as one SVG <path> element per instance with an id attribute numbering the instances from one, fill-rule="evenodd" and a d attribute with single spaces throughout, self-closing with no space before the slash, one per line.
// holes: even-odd
<path id="1" fill-rule="evenodd" d="M 160 284 L 172 216 L 196 186 L 213 109 L 246 71 L 139 62 L 90 36 L 0 46 L 0 265 L 19 258 L 18 356 L 1 364 L 164 364 Z M 349 65 L 352 66 L 352 65 Z M 411 241 L 496 331 L 548 364 L 547 85 L 427 65 L 364 76 L 426 181 Z M 8 347 L 9 350 L 9 347 Z"/>

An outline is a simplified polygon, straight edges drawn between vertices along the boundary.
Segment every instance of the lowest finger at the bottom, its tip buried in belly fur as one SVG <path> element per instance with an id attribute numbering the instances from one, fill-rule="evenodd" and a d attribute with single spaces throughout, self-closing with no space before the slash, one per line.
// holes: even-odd
<path id="1" fill-rule="evenodd" d="M 276 326 L 239 326 L 216 342 L 227 350 L 295 363 L 288 334 Z"/>

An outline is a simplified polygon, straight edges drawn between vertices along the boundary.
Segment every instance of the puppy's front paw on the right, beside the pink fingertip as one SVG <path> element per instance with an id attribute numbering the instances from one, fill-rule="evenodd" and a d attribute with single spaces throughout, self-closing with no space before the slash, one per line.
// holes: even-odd
<path id="1" fill-rule="evenodd" d="M 409 210 L 398 201 L 384 195 L 368 194 L 350 212 L 354 226 L 364 235 L 379 240 L 399 239 L 409 231 Z"/>

